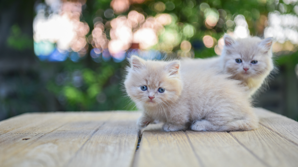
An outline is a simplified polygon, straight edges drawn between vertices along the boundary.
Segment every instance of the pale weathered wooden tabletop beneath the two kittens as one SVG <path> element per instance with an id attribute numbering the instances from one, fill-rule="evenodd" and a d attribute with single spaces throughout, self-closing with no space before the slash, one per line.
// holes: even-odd
<path id="1" fill-rule="evenodd" d="M 141 131 L 139 112 L 28 113 L 0 122 L 0 166 L 298 166 L 298 122 L 261 108 L 257 130 Z"/>

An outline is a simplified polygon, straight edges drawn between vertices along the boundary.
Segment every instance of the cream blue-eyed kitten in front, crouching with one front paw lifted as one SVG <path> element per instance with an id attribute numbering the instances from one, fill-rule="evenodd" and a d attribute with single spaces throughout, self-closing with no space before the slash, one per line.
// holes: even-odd
<path id="1" fill-rule="evenodd" d="M 143 111 L 137 121 L 141 128 L 155 120 L 164 122 L 164 131 L 236 131 L 258 126 L 246 87 L 227 79 L 228 75 L 180 67 L 179 61 L 145 61 L 136 56 L 130 64 L 124 84 L 128 96 Z"/>

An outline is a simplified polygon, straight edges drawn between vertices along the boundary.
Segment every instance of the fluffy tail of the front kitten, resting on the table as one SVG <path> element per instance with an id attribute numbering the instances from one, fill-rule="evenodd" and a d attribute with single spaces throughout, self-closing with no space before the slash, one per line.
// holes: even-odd
<path id="1" fill-rule="evenodd" d="M 254 113 L 249 114 L 244 119 L 238 119 L 221 126 L 217 131 L 247 131 L 258 128 L 259 119 Z"/>

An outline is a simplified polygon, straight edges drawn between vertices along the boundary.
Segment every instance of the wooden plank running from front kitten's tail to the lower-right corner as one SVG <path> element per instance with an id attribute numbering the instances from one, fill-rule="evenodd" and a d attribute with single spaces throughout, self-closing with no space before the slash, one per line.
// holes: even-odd
<path id="1" fill-rule="evenodd" d="M 298 146 L 260 125 L 257 130 L 229 132 L 267 166 L 297 166 Z"/>

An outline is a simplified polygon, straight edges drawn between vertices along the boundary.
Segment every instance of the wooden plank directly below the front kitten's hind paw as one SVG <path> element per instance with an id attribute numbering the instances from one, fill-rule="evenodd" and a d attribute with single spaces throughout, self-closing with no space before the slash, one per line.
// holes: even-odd
<path id="1" fill-rule="evenodd" d="M 266 166 L 227 132 L 186 131 L 185 133 L 205 167 Z"/>

